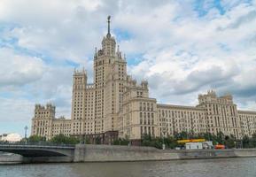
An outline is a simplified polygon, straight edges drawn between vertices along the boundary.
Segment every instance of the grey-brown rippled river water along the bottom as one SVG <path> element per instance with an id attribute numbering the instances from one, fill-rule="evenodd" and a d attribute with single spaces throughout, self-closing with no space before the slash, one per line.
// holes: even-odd
<path id="1" fill-rule="evenodd" d="M 0 165 L 0 177 L 256 177 L 256 158 Z"/>

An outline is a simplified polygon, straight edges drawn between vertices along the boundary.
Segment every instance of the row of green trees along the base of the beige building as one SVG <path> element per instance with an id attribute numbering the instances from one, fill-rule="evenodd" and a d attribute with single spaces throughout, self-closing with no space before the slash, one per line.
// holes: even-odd
<path id="1" fill-rule="evenodd" d="M 140 145 L 142 146 L 151 146 L 161 149 L 163 143 L 165 144 L 167 149 L 175 149 L 175 147 L 181 146 L 177 141 L 184 139 L 206 139 L 206 141 L 212 141 L 213 145 L 223 144 L 227 148 L 256 148 L 256 133 L 249 137 L 244 135 L 241 140 L 237 140 L 234 135 L 224 135 L 222 132 L 219 132 L 217 135 L 213 135 L 210 133 L 202 133 L 202 134 L 192 134 L 187 132 L 175 133 L 174 136 L 167 135 L 165 137 L 152 137 L 151 135 L 143 135 Z M 63 143 L 63 144 L 76 144 L 80 143 L 80 139 L 74 136 L 66 136 L 66 135 L 56 135 L 50 140 L 46 140 L 45 137 L 38 135 L 31 135 L 27 138 L 27 140 L 23 139 L 23 142 L 52 142 L 52 143 Z M 82 139 L 81 143 L 89 144 L 95 143 L 100 144 L 100 138 L 96 137 L 94 142 L 90 142 L 89 139 Z M 119 138 L 112 142 L 112 145 L 129 145 L 131 141 L 126 138 Z"/>

